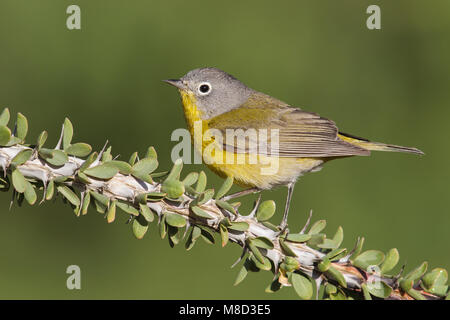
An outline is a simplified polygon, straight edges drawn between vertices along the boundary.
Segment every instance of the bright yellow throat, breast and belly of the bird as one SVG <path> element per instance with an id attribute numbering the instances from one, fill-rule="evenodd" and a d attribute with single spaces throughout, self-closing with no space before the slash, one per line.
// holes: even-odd
<path id="1" fill-rule="evenodd" d="M 236 155 L 222 150 L 215 140 L 204 139 L 204 133 L 209 129 L 208 121 L 202 120 L 200 111 L 195 107 L 192 94 L 180 91 L 184 114 L 192 142 L 201 153 L 203 162 L 221 177 L 233 177 L 235 182 L 243 187 L 271 189 L 274 186 L 286 185 L 295 181 L 306 172 L 317 170 L 323 163 L 318 158 L 279 158 L 258 155 L 256 161 L 250 155 Z M 195 122 L 201 122 L 202 134 L 195 136 Z M 197 141 L 195 141 L 197 139 Z M 201 140 L 198 140 L 201 139 Z M 209 150 L 205 152 L 205 149 Z M 238 158 L 237 157 L 241 157 Z M 235 159 L 236 161 L 229 161 Z"/>

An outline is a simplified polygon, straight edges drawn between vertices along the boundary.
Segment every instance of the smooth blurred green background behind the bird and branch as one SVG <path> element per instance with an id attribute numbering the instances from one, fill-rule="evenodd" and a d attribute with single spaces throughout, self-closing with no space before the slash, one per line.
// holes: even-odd
<path id="1" fill-rule="evenodd" d="M 69 31 L 73 3 L 82 29 Z M 370 4 L 381 7 L 381 30 L 366 28 Z M 161 79 L 219 67 L 344 132 L 426 153 L 374 153 L 303 177 L 292 231 L 313 209 L 327 233 L 344 227 L 349 248 L 363 235 L 366 249 L 397 247 L 407 269 L 423 260 L 449 268 L 449 12 L 446 0 L 2 0 L 0 106 L 28 117 L 31 139 L 46 129 L 55 143 L 67 116 L 76 141 L 98 150 L 108 139 L 123 159 L 154 145 L 165 169 L 170 134 L 185 123 L 178 93 Z M 285 195 L 264 193 L 277 200 L 274 221 Z M 0 195 L 0 298 L 296 298 L 289 288 L 264 293 L 268 272 L 233 287 L 238 246 L 171 249 L 154 226 L 134 239 L 125 214 L 111 225 L 93 210 L 76 218 L 60 199 L 8 211 L 10 197 Z M 81 290 L 66 288 L 71 264 L 81 267 Z"/>

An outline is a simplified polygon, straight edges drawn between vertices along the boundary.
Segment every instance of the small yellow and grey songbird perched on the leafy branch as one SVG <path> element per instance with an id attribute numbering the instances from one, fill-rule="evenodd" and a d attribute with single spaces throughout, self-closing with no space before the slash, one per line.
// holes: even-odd
<path id="1" fill-rule="evenodd" d="M 217 68 L 195 69 L 180 79 L 164 81 L 181 94 L 194 147 L 205 164 L 221 177 L 232 177 L 248 188 L 226 200 L 280 185 L 288 187 L 280 224 L 283 231 L 294 185 L 301 175 L 320 170 L 329 160 L 368 156 L 370 151 L 423 154 L 416 148 L 343 133 L 333 121 L 253 90 Z M 236 161 L 238 156 L 241 161 Z M 264 171 L 274 162 L 276 170 Z"/>

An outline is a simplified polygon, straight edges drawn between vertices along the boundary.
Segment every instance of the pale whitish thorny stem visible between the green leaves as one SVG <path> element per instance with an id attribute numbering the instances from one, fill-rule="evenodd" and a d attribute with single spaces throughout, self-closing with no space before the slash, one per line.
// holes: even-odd
<path id="1" fill-rule="evenodd" d="M 58 143 L 58 145 L 60 145 L 60 143 Z M 4 169 L 5 173 L 11 173 L 11 160 L 19 152 L 26 149 L 32 148 L 20 144 L 0 148 L 0 167 Z M 98 159 L 100 159 L 100 155 Z M 44 185 L 44 187 L 46 187 L 48 182 L 51 180 L 65 177 L 67 180 L 64 181 L 64 184 L 78 189 L 82 194 L 82 197 L 87 191 L 96 191 L 111 200 L 119 199 L 132 205 L 135 205 L 136 197 L 140 194 L 161 191 L 160 183 L 148 183 L 137 179 L 132 175 L 124 175 L 121 173 L 117 173 L 114 177 L 108 180 L 90 177 L 89 183 L 83 183 L 75 180 L 77 172 L 84 161 L 85 160 L 80 158 L 70 156 L 64 165 L 55 167 L 36 156 L 36 153 L 34 152 L 33 156 L 28 161 L 18 166 L 17 169 L 27 179 L 30 179 L 30 181 L 34 183 L 40 182 Z M 247 243 L 249 239 L 265 237 L 273 243 L 273 249 L 262 249 L 261 253 L 272 261 L 272 272 L 274 272 L 275 276 L 278 274 L 280 277 L 280 283 L 284 286 L 290 286 L 290 283 L 285 279 L 286 275 L 283 272 L 280 272 L 279 269 L 280 264 L 286 259 L 286 250 L 282 248 L 280 243 L 280 237 L 282 235 L 280 235 L 279 232 L 268 228 L 261 222 L 258 222 L 255 217 L 255 212 L 248 216 L 243 216 L 238 212 L 236 212 L 236 215 L 230 215 L 230 213 L 221 209 L 216 204 L 214 199 L 211 199 L 200 206 L 201 209 L 211 215 L 210 219 L 204 219 L 192 215 L 189 210 L 189 203 L 192 201 L 192 197 L 190 195 L 185 193 L 183 194 L 182 199 L 183 201 L 177 202 L 167 199 L 162 199 L 160 201 L 149 201 L 147 202 L 147 205 L 154 213 L 158 215 L 158 220 L 161 220 L 161 216 L 168 211 L 183 216 L 187 219 L 188 225 L 208 227 L 217 233 L 220 233 L 220 223 L 226 217 L 231 217 L 233 222 L 248 223 L 249 228 L 246 231 L 230 230 L 229 232 L 229 241 L 242 246 L 244 250 L 243 255 L 237 262 L 243 258 L 246 252 L 248 252 Z M 258 199 L 256 207 L 259 202 L 260 201 Z M 311 216 L 308 218 L 305 227 L 302 229 L 302 233 L 305 232 L 310 219 Z M 288 240 L 284 240 L 284 243 L 295 254 L 294 258 L 298 261 L 299 270 L 301 272 L 311 277 L 317 284 L 329 282 L 336 285 L 336 280 L 333 279 L 333 277 L 329 276 L 327 272 L 321 272 L 318 268 L 318 264 L 324 259 L 324 252 L 314 249 L 306 243 L 296 243 Z M 400 289 L 397 282 L 398 278 L 381 276 L 362 270 L 352 265 L 352 262 L 349 259 L 350 255 L 351 254 L 348 254 L 337 261 L 331 262 L 331 266 L 340 271 L 343 275 L 346 284 L 345 290 L 356 294 L 361 294 L 363 284 L 378 280 L 385 282 L 393 288 L 387 299 L 413 299 L 413 297 Z M 413 288 L 418 290 L 426 299 L 441 299 L 441 297 L 437 295 L 425 292 L 418 285 L 415 285 Z"/>

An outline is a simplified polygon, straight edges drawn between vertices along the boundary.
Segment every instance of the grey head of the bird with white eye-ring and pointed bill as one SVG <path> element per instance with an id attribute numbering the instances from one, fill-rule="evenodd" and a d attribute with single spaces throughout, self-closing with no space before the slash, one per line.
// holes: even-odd
<path id="1" fill-rule="evenodd" d="M 192 93 L 205 119 L 238 108 L 255 91 L 217 68 L 189 71 L 180 79 L 164 80 L 180 91 Z"/>

